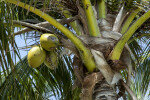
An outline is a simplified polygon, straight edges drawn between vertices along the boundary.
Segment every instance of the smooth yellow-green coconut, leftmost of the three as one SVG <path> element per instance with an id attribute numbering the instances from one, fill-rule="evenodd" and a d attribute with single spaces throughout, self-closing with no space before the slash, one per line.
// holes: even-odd
<path id="1" fill-rule="evenodd" d="M 39 67 L 46 58 L 46 51 L 40 46 L 34 46 L 28 52 L 28 64 L 33 68 Z"/>

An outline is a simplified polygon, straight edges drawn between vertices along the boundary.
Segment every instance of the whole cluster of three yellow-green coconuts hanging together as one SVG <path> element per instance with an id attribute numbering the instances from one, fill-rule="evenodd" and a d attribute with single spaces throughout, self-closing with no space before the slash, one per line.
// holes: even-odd
<path id="1" fill-rule="evenodd" d="M 28 64 L 30 67 L 37 68 L 43 62 L 54 70 L 57 67 L 57 53 L 55 49 L 59 45 L 56 35 L 45 33 L 40 37 L 40 46 L 34 46 L 28 52 Z"/>

